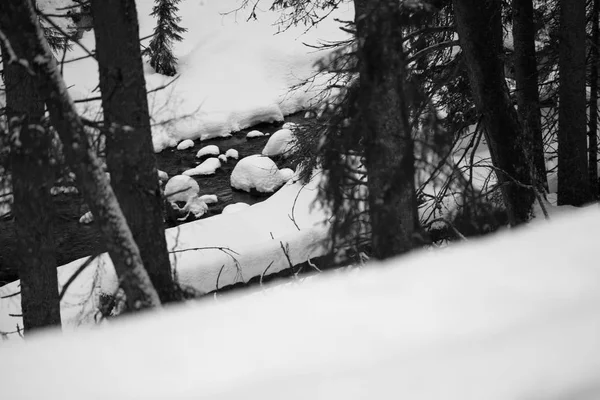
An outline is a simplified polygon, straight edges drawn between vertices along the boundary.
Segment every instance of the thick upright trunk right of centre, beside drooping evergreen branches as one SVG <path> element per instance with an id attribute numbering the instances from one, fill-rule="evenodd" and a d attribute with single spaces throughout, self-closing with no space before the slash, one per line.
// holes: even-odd
<path id="1" fill-rule="evenodd" d="M 418 229 L 413 141 L 404 94 L 401 3 L 354 3 L 371 244 L 373 255 L 383 259 L 410 250 Z"/>

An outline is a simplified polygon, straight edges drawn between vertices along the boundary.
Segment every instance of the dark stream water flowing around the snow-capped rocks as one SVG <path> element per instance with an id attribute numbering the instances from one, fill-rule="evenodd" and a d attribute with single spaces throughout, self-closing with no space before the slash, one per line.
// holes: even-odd
<path id="1" fill-rule="evenodd" d="M 291 116 L 286 121 L 298 122 L 302 118 Z M 258 129 L 264 133 L 273 133 L 281 128 L 281 124 L 259 124 L 252 128 L 234 133 L 230 138 L 219 138 L 195 141 L 195 146 L 187 150 L 165 149 L 156 154 L 158 169 L 165 171 L 169 178 L 181 174 L 183 171 L 194 168 L 202 160 L 196 158 L 198 150 L 209 144 L 219 147 L 221 153 L 228 149 L 236 149 L 239 159 L 253 154 L 260 154 L 267 143 L 268 136 L 246 139 L 246 133 Z M 265 200 L 266 196 L 255 196 L 246 192 L 233 190 L 229 177 L 237 160 L 229 159 L 222 163 L 220 169 L 211 176 L 195 176 L 200 186 L 200 195 L 214 194 L 219 201 L 209 204 L 208 213 L 203 218 L 220 214 L 225 206 L 237 202 L 255 204 Z M 277 162 L 279 168 L 287 165 Z M 87 211 L 87 207 L 79 194 L 60 194 L 53 197 L 56 206 L 54 241 L 57 247 L 57 265 L 63 265 L 86 255 L 105 251 L 104 243 L 95 223 L 83 225 L 79 218 Z M 191 220 L 191 219 L 190 219 Z M 189 220 L 188 220 L 189 221 Z M 187 221 L 186 221 L 187 222 Z M 18 279 L 17 250 L 14 237 L 14 223 L 12 219 L 0 220 L 0 285 Z"/>

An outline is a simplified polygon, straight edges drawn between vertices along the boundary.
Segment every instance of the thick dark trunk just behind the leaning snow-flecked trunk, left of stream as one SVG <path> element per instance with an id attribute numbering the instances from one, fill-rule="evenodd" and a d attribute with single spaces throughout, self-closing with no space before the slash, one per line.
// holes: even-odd
<path id="1" fill-rule="evenodd" d="M 146 81 L 133 0 L 93 0 L 92 16 L 106 130 L 107 163 L 144 266 L 163 302 L 173 279 L 165 240 Z M 123 128 L 127 126 L 127 128 Z"/>

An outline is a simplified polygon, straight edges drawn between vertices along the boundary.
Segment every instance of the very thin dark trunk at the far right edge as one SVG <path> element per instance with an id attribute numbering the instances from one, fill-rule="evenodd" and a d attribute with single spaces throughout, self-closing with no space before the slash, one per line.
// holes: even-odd
<path id="1" fill-rule="evenodd" d="M 592 44 L 590 58 L 590 124 L 588 129 L 588 170 L 592 197 L 598 199 L 598 63 L 600 61 L 598 46 L 600 46 L 600 0 L 594 0 L 592 8 Z"/>

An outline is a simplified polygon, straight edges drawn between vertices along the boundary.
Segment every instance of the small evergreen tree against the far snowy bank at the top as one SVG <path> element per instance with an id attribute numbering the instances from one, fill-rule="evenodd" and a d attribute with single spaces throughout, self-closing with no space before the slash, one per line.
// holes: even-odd
<path id="1" fill-rule="evenodd" d="M 150 65 L 159 74 L 173 76 L 177 73 L 175 63 L 177 58 L 173 55 L 173 42 L 180 42 L 181 34 L 187 29 L 178 25 L 181 17 L 177 16 L 177 3 L 180 0 L 156 0 L 152 9 L 152 16 L 158 18 L 154 35 L 144 55 L 150 57 Z"/>

